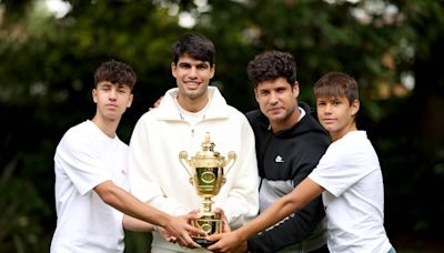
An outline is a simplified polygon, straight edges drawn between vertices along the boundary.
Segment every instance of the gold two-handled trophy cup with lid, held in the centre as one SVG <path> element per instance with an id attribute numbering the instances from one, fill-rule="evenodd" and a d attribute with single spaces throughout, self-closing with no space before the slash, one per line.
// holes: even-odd
<path id="1" fill-rule="evenodd" d="M 190 175 L 190 183 L 194 185 L 198 195 L 203 198 L 200 217 L 194 222 L 194 226 L 204 231 L 206 234 L 222 232 L 222 219 L 218 213 L 212 212 L 212 196 L 218 195 L 221 186 L 225 183 L 224 168 L 228 170 L 234 164 L 236 154 L 233 151 L 228 153 L 228 159 L 214 151 L 214 142 L 210 141 L 210 133 L 205 134 L 202 142 L 202 151 L 188 159 L 188 153 L 181 151 L 179 160 Z M 202 246 L 209 246 L 214 242 L 205 240 L 200 234 L 192 235 L 192 239 Z"/>

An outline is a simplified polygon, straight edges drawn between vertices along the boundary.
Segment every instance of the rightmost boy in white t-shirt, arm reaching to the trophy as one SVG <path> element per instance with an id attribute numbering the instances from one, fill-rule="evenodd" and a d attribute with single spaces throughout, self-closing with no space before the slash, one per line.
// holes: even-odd
<path id="1" fill-rule="evenodd" d="M 384 229 L 384 189 L 379 159 L 365 131 L 356 129 L 360 109 L 356 81 L 330 72 L 314 85 L 317 118 L 333 143 L 313 172 L 291 193 L 274 202 L 260 216 L 220 240 L 211 251 L 232 252 L 248 240 L 301 210 L 322 194 L 327 217 L 331 252 L 395 252 Z"/>

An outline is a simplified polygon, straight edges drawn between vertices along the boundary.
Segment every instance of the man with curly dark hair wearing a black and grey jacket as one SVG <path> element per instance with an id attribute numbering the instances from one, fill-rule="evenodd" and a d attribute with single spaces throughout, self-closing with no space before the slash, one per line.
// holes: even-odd
<path id="1" fill-rule="evenodd" d="M 316 166 L 330 144 L 329 136 L 297 103 L 296 63 L 292 54 L 268 51 L 248 65 L 260 110 L 246 113 L 256 140 L 260 209 L 290 193 Z M 326 221 L 319 196 L 305 209 L 251 237 L 250 252 L 329 252 Z"/>

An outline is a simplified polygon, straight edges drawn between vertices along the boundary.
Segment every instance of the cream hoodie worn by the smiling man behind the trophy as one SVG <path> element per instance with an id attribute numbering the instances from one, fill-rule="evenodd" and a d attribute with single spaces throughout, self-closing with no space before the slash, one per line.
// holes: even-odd
<path id="1" fill-rule="evenodd" d="M 258 214 L 259 175 L 254 135 L 246 118 L 226 104 L 220 91 L 209 87 L 210 104 L 195 124 L 188 122 L 175 101 L 178 88 L 169 90 L 159 108 L 144 113 L 130 142 L 129 179 L 131 193 L 173 215 L 186 214 L 201 206 L 202 199 L 190 183 L 189 172 L 179 153 L 189 158 L 200 151 L 206 132 L 215 143 L 214 151 L 225 156 L 236 153 L 234 165 L 224 171 L 226 182 L 212 198 L 222 208 L 232 229 Z M 183 251 L 154 233 L 153 246 Z"/>

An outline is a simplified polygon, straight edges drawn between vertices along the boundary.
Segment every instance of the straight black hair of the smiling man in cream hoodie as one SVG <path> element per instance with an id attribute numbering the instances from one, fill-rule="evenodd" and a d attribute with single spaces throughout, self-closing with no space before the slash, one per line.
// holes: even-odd
<path id="1" fill-rule="evenodd" d="M 215 61 L 215 49 L 211 40 L 199 34 L 185 34 L 174 42 L 173 48 L 173 62 L 178 64 L 179 58 L 183 54 L 210 62 L 210 67 L 213 67 Z"/>

